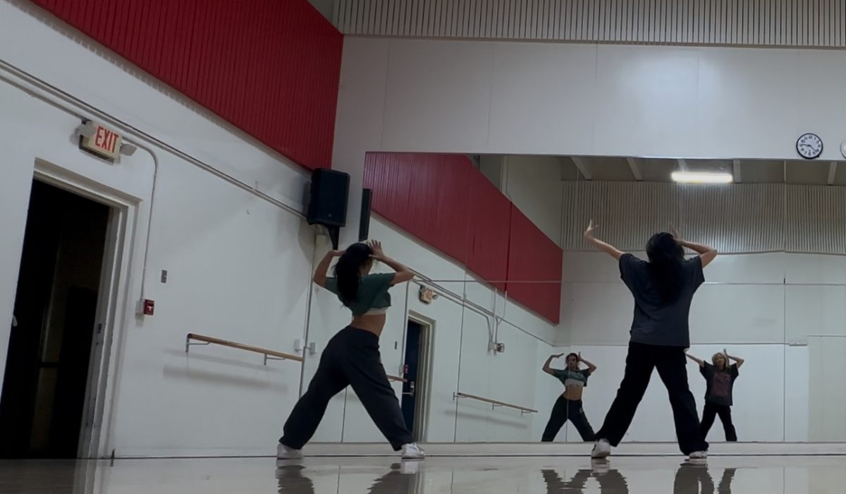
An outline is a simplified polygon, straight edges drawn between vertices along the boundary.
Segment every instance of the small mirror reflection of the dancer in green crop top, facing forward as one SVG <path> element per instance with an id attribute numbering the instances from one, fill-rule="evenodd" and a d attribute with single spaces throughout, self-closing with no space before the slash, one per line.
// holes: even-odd
<path id="1" fill-rule="evenodd" d="M 570 353 L 567 356 L 567 369 L 552 369 L 549 366 L 549 364 L 552 364 L 552 358 L 559 358 L 562 355 L 563 353 L 550 355 L 546 364 L 543 364 L 543 371 L 548 375 L 557 377 L 564 385 L 564 392 L 552 407 L 552 414 L 549 417 L 549 422 L 547 422 L 547 428 L 543 431 L 541 441 L 555 441 L 558 430 L 561 430 L 568 419 L 573 422 L 576 430 L 579 431 L 582 441 L 593 441 L 593 428 L 585 416 L 581 396 L 582 391 L 587 386 L 588 376 L 596 371 L 596 365 L 581 358 L 581 353 Z M 580 364 L 587 365 L 587 369 L 579 369 Z"/>

